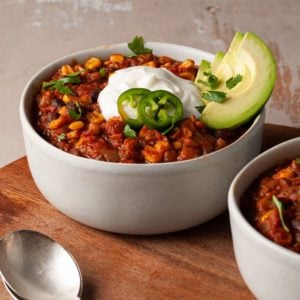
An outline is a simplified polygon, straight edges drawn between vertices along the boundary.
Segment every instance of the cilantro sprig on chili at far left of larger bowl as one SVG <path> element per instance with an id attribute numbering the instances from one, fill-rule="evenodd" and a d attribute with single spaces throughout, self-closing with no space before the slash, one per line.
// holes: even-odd
<path id="1" fill-rule="evenodd" d="M 74 92 L 65 84 L 67 83 L 74 83 L 78 84 L 80 83 L 80 77 L 78 76 L 81 72 L 84 72 L 84 70 L 81 70 L 76 73 L 71 73 L 66 75 L 65 77 L 62 77 L 58 80 L 51 80 L 49 82 L 43 82 L 43 89 L 49 89 L 49 90 L 57 90 L 61 94 L 68 94 L 68 95 L 74 95 Z"/>

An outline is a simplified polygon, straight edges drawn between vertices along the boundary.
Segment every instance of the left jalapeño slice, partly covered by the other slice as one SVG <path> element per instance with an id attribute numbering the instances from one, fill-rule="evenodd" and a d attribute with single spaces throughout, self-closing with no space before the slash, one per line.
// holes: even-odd
<path id="1" fill-rule="evenodd" d="M 137 112 L 137 105 L 148 94 L 150 94 L 148 89 L 133 88 L 123 92 L 118 98 L 119 114 L 123 121 L 133 128 L 143 126 L 143 122 L 140 120 Z"/>

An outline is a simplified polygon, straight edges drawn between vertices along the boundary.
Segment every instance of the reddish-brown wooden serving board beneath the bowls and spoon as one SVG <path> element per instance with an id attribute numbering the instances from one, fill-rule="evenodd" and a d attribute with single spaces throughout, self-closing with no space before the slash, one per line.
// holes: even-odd
<path id="1" fill-rule="evenodd" d="M 300 128 L 265 125 L 263 148 L 296 136 Z M 228 213 L 165 235 L 95 230 L 44 199 L 23 157 L 0 170 L 0 224 L 0 236 L 37 230 L 70 251 L 82 271 L 83 300 L 254 299 L 234 259 Z M 0 299 L 9 299 L 1 283 Z"/>

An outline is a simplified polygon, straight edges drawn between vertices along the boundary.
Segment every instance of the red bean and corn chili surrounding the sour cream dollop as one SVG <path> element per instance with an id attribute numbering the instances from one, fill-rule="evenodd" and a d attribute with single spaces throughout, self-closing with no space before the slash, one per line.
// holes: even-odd
<path id="1" fill-rule="evenodd" d="M 191 59 L 179 62 L 153 54 L 115 54 L 104 60 L 92 57 L 83 64 L 63 65 L 49 78 L 50 82 L 74 73 L 80 80 L 41 89 L 35 101 L 36 130 L 54 146 L 77 156 L 109 162 L 161 163 L 192 159 L 224 148 L 249 127 L 245 124 L 235 130 L 212 131 L 190 116 L 167 134 L 143 126 L 136 137 L 126 137 L 123 120 L 104 120 L 97 98 L 110 74 L 138 65 L 166 68 L 191 81 L 197 73 Z"/>

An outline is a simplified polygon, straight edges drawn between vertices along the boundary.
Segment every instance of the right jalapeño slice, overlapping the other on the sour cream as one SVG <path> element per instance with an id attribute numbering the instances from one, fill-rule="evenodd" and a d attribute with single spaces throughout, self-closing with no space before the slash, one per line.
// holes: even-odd
<path id="1" fill-rule="evenodd" d="M 165 90 L 157 90 L 138 102 L 137 113 L 148 128 L 169 131 L 182 118 L 183 106 L 177 96 Z"/>

